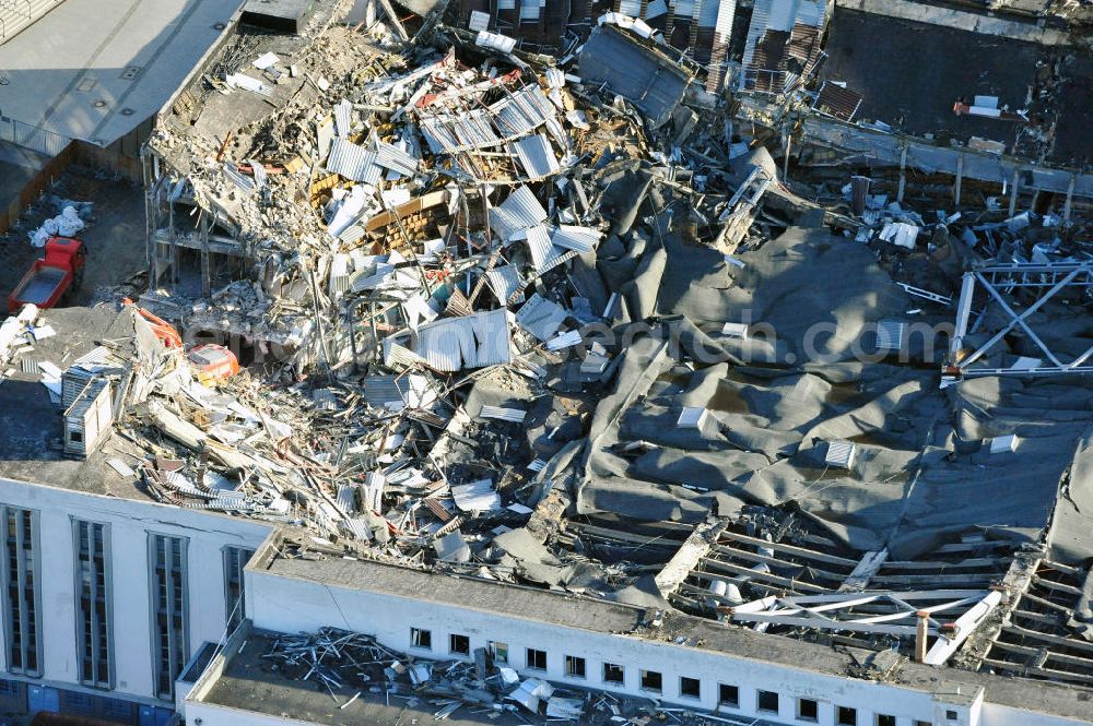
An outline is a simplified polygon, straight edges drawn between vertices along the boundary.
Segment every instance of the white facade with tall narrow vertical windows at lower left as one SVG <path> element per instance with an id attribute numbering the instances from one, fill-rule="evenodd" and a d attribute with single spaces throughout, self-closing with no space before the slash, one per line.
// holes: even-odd
<path id="1" fill-rule="evenodd" d="M 0 478 L 4 710 L 169 718 L 202 643 L 242 619 L 268 525 Z"/>

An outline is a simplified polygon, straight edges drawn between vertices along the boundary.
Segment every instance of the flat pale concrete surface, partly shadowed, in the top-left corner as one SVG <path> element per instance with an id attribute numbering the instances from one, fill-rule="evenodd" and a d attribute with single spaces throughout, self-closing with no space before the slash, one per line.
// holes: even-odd
<path id="1" fill-rule="evenodd" d="M 67 0 L 0 46 L 0 112 L 108 145 L 160 110 L 242 0 Z"/>

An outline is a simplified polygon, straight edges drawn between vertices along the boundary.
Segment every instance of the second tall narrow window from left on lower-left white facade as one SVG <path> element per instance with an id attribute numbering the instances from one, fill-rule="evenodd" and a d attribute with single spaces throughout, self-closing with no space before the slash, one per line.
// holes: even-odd
<path id="1" fill-rule="evenodd" d="M 72 522 L 75 539 L 75 628 L 80 682 L 114 688 L 109 529 L 98 522 Z"/>

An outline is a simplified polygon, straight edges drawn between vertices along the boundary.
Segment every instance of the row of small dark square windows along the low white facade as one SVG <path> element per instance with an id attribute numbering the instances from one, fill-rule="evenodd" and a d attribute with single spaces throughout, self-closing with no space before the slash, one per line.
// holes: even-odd
<path id="1" fill-rule="evenodd" d="M 413 647 L 424 651 L 433 651 L 433 633 L 422 628 L 410 629 L 410 643 Z M 500 665 L 517 666 L 510 659 L 508 645 L 506 643 L 491 642 L 490 653 L 494 663 Z M 448 635 L 448 654 L 458 657 L 469 657 L 471 654 L 470 636 L 451 633 Z M 525 650 L 524 668 L 529 671 L 543 671 L 548 669 L 546 651 L 529 647 Z M 563 656 L 563 673 L 566 678 L 588 679 L 589 668 L 586 658 L 576 655 Z M 626 667 L 616 663 L 602 663 L 599 667 L 599 681 L 608 687 L 622 687 L 626 683 Z M 645 668 L 638 669 L 638 686 L 640 690 L 650 694 L 665 694 L 665 676 L 658 670 Z M 704 692 L 704 681 L 701 678 L 680 676 L 674 695 L 680 699 L 702 700 Z M 761 714 L 781 713 L 783 697 L 775 691 L 756 689 L 755 711 Z M 795 715 L 797 721 L 804 723 L 819 723 L 820 709 L 823 704 L 815 699 L 796 699 Z M 718 710 L 740 710 L 740 686 L 736 683 L 717 683 L 717 706 Z M 851 706 L 833 706 L 835 710 L 836 726 L 867 726 L 865 721 L 859 719 L 858 710 Z M 954 711 L 947 713 L 950 721 L 955 722 L 957 714 Z M 916 721 L 915 726 L 931 726 L 931 722 Z M 874 713 L 872 726 L 896 726 L 896 718 L 892 715 Z"/>

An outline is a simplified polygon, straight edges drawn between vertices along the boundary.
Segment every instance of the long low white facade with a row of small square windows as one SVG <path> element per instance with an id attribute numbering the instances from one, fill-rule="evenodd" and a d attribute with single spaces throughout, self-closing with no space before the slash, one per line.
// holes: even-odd
<path id="1" fill-rule="evenodd" d="M 312 632 L 333 627 L 375 636 L 393 650 L 415 657 L 471 659 L 475 648 L 487 648 L 495 660 L 534 677 L 565 686 L 657 699 L 665 704 L 761 719 L 763 723 L 821 726 L 1067 726 L 1090 723 L 1073 689 L 1058 689 L 1066 703 L 1053 714 L 1039 703 L 1022 700 L 1021 689 L 1044 693 L 1055 687 L 1031 681 L 955 671 L 945 667 L 907 664 L 895 682 L 851 678 L 835 673 L 820 645 L 789 642 L 774 635 L 749 633 L 753 643 L 773 639 L 771 653 L 760 657 L 704 646 L 681 645 L 674 639 L 601 632 L 618 620 L 618 604 L 586 602 L 587 627 L 549 622 L 543 611 L 509 612 L 487 609 L 484 598 L 466 603 L 440 602 L 436 591 L 456 587 L 448 575 L 414 573 L 411 586 L 420 596 L 381 588 L 344 586 L 308 576 L 286 576 L 267 567 L 271 551 L 260 550 L 247 568 L 247 612 L 255 629 L 272 632 Z M 376 568 L 374 563 L 361 567 Z M 506 585 L 473 581 L 474 588 Z M 483 593 L 486 591 L 482 591 Z M 561 603 L 560 594 L 542 593 L 544 604 Z M 600 607 L 602 606 L 602 607 Z M 543 608 L 545 609 L 545 608 Z M 608 610 L 614 612 L 609 612 Z M 631 608 L 640 618 L 638 608 Z M 603 610 L 603 620 L 598 611 Z M 715 628 L 717 626 L 714 626 Z M 703 631 L 708 632 L 708 631 Z M 755 640 L 760 639 L 760 640 Z M 427 647 L 423 646 L 427 643 Z M 458 648 L 455 644 L 458 643 Z M 751 648 L 749 648 L 751 650 Z M 796 651 L 796 653 L 795 653 Z M 759 653 L 762 653 L 760 650 Z M 231 655 L 228 648 L 227 656 Z M 796 659 L 796 663 L 790 664 Z M 780 660 L 780 662 L 777 662 Z M 211 668 L 214 670 L 214 668 Z M 188 723 L 202 726 L 305 724 L 282 715 L 263 717 L 202 700 L 215 673 L 205 674 L 186 698 Z M 985 687 L 986 685 L 986 687 Z M 991 698 L 995 698 L 992 701 Z M 1076 701 L 1077 699 L 1077 701 Z"/>

